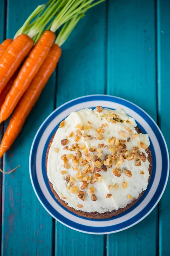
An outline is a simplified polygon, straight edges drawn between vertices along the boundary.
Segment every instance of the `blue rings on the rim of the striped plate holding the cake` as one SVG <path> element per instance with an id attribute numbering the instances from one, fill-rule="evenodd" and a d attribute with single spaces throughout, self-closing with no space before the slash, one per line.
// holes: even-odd
<path id="1" fill-rule="evenodd" d="M 54 117 L 59 115 L 60 113 L 62 113 L 63 111 L 65 111 L 66 109 L 68 109 L 68 108 L 70 108 L 74 105 L 77 105 L 77 104 L 83 103 L 83 102 L 90 102 L 90 101 L 115 102 L 115 103 L 118 103 L 120 105 L 124 105 L 127 108 L 132 109 L 139 116 L 141 116 L 149 124 L 150 128 L 152 129 L 152 131 L 156 135 L 156 138 L 159 142 L 159 145 L 160 145 L 160 148 L 161 148 L 162 170 L 164 170 L 164 171 L 161 170 L 161 177 L 160 177 L 160 180 L 159 180 L 159 185 L 157 186 L 157 189 L 156 189 L 155 194 L 153 195 L 153 198 L 151 198 L 151 200 L 146 205 L 146 207 L 144 207 L 138 214 L 133 216 L 133 218 L 130 218 L 130 219 L 128 219 L 124 222 L 121 222 L 119 224 L 114 224 L 114 225 L 105 226 L 105 227 L 94 227 L 94 226 L 92 227 L 90 224 L 89 225 L 79 224 L 78 222 L 71 221 L 70 219 L 66 218 L 65 216 L 63 216 L 59 212 L 57 212 L 57 210 L 54 209 L 54 207 L 52 207 L 51 204 L 48 202 L 48 200 L 45 198 L 45 195 L 43 194 L 43 192 L 40 188 L 40 184 L 38 183 L 38 179 L 37 179 L 36 166 L 35 166 L 37 148 L 38 148 L 40 139 L 42 137 L 43 132 L 48 127 L 50 122 L 54 119 Z M 139 128 L 141 128 L 142 131 L 144 131 L 144 128 L 142 128 L 140 125 L 139 125 Z M 57 126 L 56 126 L 55 129 L 57 129 Z M 45 185 L 47 186 L 48 191 L 50 192 L 50 195 L 54 198 L 55 201 L 57 201 L 57 199 L 54 197 L 53 193 L 51 192 L 50 186 L 48 184 L 46 171 L 45 171 L 46 149 L 47 149 L 48 143 L 49 143 L 52 135 L 54 134 L 54 131 L 51 131 L 51 133 L 48 136 L 48 140 L 45 143 L 45 148 L 43 150 L 41 164 L 42 164 L 42 175 L 43 175 L 43 178 L 44 178 L 44 181 L 45 181 Z M 153 157 L 153 170 L 154 170 L 154 168 L 155 168 L 154 163 L 156 164 L 156 157 L 155 157 L 155 151 L 154 151 L 154 148 L 153 148 L 153 145 L 152 145 L 152 141 L 151 141 L 150 149 L 151 149 L 151 153 L 152 153 L 152 157 Z M 29 170 L 30 170 L 31 183 L 32 183 L 32 186 L 34 188 L 34 192 L 37 195 L 37 198 L 39 199 L 42 206 L 55 219 L 57 219 L 62 224 L 66 225 L 67 227 L 71 227 L 74 230 L 78 230 L 78 231 L 81 231 L 81 232 L 84 232 L 84 233 L 93 233 L 93 234 L 115 233 L 115 232 L 119 232 L 121 230 L 125 230 L 129 227 L 132 227 L 133 225 L 137 224 L 139 221 L 142 221 L 142 219 L 144 219 L 154 209 L 154 207 L 156 207 L 159 200 L 161 199 L 161 196 L 163 195 L 164 189 L 165 189 L 166 184 L 167 184 L 167 179 L 168 179 L 168 175 L 169 175 L 169 155 L 168 155 L 166 142 L 164 140 L 164 137 L 163 137 L 159 127 L 156 125 L 154 120 L 145 111 L 143 111 L 137 105 L 135 105 L 135 104 L 133 104 L 133 103 L 131 103 L 131 102 L 125 100 L 125 99 L 122 99 L 122 98 L 118 98 L 118 97 L 115 97 L 115 96 L 108 96 L 108 95 L 90 95 L 90 96 L 84 96 L 84 97 L 80 97 L 80 98 L 71 100 L 69 102 L 66 102 L 65 104 L 63 104 L 59 108 L 57 108 L 55 111 L 53 111 L 45 119 L 45 121 L 42 123 L 39 130 L 37 131 L 37 134 L 35 135 L 34 141 L 33 141 L 32 146 L 31 146 L 30 158 L 29 158 Z M 153 184 L 154 176 L 155 176 L 155 173 L 153 172 L 152 176 L 151 176 L 150 183 L 148 185 L 148 188 L 147 188 L 146 192 L 144 192 L 144 195 L 142 196 L 142 198 L 140 198 L 140 200 L 133 207 L 131 207 L 129 210 L 122 213 L 121 215 L 118 215 L 116 217 L 111 218 L 110 220 L 119 218 L 120 216 L 122 217 L 123 215 L 126 215 L 128 212 L 132 211 L 139 204 L 141 204 L 141 202 L 144 200 L 144 198 L 147 196 L 148 192 L 150 191 L 150 187 Z M 57 201 L 57 204 L 59 204 L 58 201 Z M 59 204 L 59 205 L 61 207 L 61 204 Z M 70 211 L 68 211 L 68 212 L 70 212 Z M 70 212 L 70 213 L 72 215 L 75 215 L 72 212 Z M 76 216 L 79 217 L 78 215 L 76 215 Z M 87 219 L 87 218 L 83 218 L 83 217 L 79 217 L 79 218 L 80 219 Z M 90 221 L 106 221 L 106 220 L 94 220 L 94 219 L 91 219 L 91 220 L 87 219 L 87 220 L 89 222 Z"/>

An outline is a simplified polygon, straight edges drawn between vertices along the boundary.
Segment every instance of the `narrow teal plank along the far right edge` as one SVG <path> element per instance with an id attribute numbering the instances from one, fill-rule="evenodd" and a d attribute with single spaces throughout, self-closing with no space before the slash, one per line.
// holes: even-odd
<path id="1" fill-rule="evenodd" d="M 159 126 L 170 149 L 170 1 L 157 2 L 157 84 Z M 159 203 L 159 255 L 170 255 L 170 179 Z"/>

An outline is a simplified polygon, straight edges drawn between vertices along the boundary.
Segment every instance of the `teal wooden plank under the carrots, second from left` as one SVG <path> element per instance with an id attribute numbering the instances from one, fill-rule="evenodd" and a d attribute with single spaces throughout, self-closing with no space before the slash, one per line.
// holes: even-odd
<path id="1" fill-rule="evenodd" d="M 9 0 L 7 37 L 13 37 L 39 0 Z M 52 254 L 52 218 L 38 201 L 29 177 L 28 158 L 34 135 L 54 109 L 55 75 L 26 120 L 22 132 L 4 158 L 5 170 L 21 164 L 11 175 L 3 176 L 2 255 Z M 7 127 L 7 122 L 5 124 Z"/>

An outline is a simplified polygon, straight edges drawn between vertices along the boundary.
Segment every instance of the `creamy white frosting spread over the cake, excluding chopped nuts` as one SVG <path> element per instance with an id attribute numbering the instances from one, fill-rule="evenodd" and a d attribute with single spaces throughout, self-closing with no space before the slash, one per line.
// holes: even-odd
<path id="1" fill-rule="evenodd" d="M 116 113 L 119 116 L 119 119 L 125 122 L 116 122 L 112 123 L 109 122 L 108 116 Z M 113 120 L 113 117 L 111 121 Z M 127 123 L 126 120 L 129 120 L 130 123 Z M 75 143 L 75 126 L 81 124 L 82 126 L 89 125 L 88 121 L 92 123 L 92 129 L 86 130 L 84 129 L 82 135 L 85 136 L 87 134 L 91 135 L 92 137 L 96 137 L 96 129 L 101 127 L 102 124 L 107 123 L 105 132 L 102 134 L 102 140 L 88 140 L 84 141 L 84 137 L 82 136 L 78 143 L 85 144 L 86 148 L 91 148 L 95 146 L 95 148 L 99 148 L 98 144 L 103 143 L 104 145 L 108 145 L 108 140 L 111 137 L 116 137 L 119 140 L 127 140 L 127 138 L 131 137 L 132 134 L 136 134 L 136 122 L 130 116 L 127 116 L 125 111 L 122 108 L 118 108 L 116 111 L 112 111 L 109 109 L 103 109 L 102 112 L 98 112 L 96 109 L 83 109 L 77 112 L 71 113 L 66 119 L 65 124 L 62 128 L 59 128 L 54 136 L 54 140 L 51 144 L 51 148 L 48 154 L 48 164 L 47 164 L 47 173 L 50 182 L 53 184 L 54 190 L 57 192 L 60 198 L 65 197 L 64 201 L 68 203 L 68 206 L 73 207 L 77 210 L 82 210 L 84 212 L 110 212 L 112 210 L 117 210 L 119 208 L 124 208 L 127 204 L 130 204 L 135 198 L 139 197 L 139 194 L 147 188 L 148 178 L 149 178 L 149 161 L 146 160 L 143 162 L 141 160 L 141 166 L 136 166 L 136 160 L 127 160 L 125 159 L 124 163 L 119 166 L 121 168 L 121 176 L 116 177 L 113 174 L 113 169 L 116 167 L 116 161 L 113 162 L 111 168 L 108 168 L 107 172 L 101 170 L 98 172 L 102 175 L 102 182 L 95 182 L 94 184 L 89 183 L 88 187 L 86 187 L 83 191 L 85 191 L 85 201 L 82 201 L 78 196 L 77 193 L 73 194 L 70 190 L 67 190 L 67 186 L 70 183 L 66 183 L 65 177 L 67 175 L 71 175 L 71 177 L 75 177 L 77 171 L 75 171 L 72 166 L 72 160 L 68 159 L 69 169 L 63 168 L 63 160 L 61 159 L 63 154 L 74 154 L 76 152 L 64 150 L 64 146 L 61 145 L 62 139 L 68 139 L 66 146 L 71 146 Z M 125 129 L 125 126 L 128 126 L 132 132 L 129 132 Z M 125 131 L 126 137 L 122 137 L 119 134 L 119 131 Z M 71 132 L 74 132 L 73 137 L 68 137 Z M 130 142 L 126 142 L 125 145 L 127 146 L 127 150 L 129 150 L 128 155 L 133 150 L 133 147 L 139 146 L 139 143 L 142 142 L 149 146 L 149 138 L 147 134 L 139 134 L 139 137 L 133 138 Z M 55 151 L 54 148 L 57 148 L 59 151 L 58 153 Z M 110 147 L 102 147 L 102 157 L 103 160 L 105 154 L 111 155 L 111 151 L 108 150 Z M 85 153 L 82 152 L 82 157 L 85 159 Z M 88 151 L 90 152 L 90 151 Z M 147 156 L 147 153 L 143 148 L 139 147 L 139 152 L 144 152 Z M 91 152 L 90 152 L 91 153 Z M 97 155 L 97 153 L 91 153 Z M 103 162 L 103 161 L 102 161 Z M 129 170 L 132 174 L 131 177 L 128 177 L 125 173 L 125 169 Z M 61 172 L 65 170 L 67 173 L 62 175 Z M 80 171 L 83 172 L 84 166 L 80 166 Z M 143 171 L 144 175 L 140 172 Z M 90 174 L 86 174 L 83 176 L 87 176 Z M 75 179 L 75 178 L 74 178 Z M 122 184 L 127 182 L 127 188 L 124 189 Z M 114 185 L 119 184 L 119 189 L 115 189 Z M 74 186 L 78 186 L 79 191 L 81 191 L 80 186 L 82 182 L 75 179 Z M 110 185 L 113 185 L 111 190 L 108 189 Z M 91 200 L 91 194 L 89 192 L 89 188 L 93 186 L 95 189 L 94 195 L 96 195 L 97 200 Z M 107 194 L 112 194 L 110 198 L 106 198 Z M 129 199 L 127 195 L 132 195 L 132 199 Z M 81 204 L 83 207 L 80 209 L 77 205 Z"/>

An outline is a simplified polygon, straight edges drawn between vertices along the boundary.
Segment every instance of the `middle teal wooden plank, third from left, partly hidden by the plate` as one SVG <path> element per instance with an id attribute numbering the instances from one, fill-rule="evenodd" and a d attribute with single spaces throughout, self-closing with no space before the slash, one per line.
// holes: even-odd
<path id="1" fill-rule="evenodd" d="M 62 47 L 57 82 L 57 106 L 94 93 L 105 86 L 105 11 L 106 3 L 95 6 L 80 20 Z M 79 233 L 56 224 L 55 255 L 102 255 L 104 236 Z"/>

